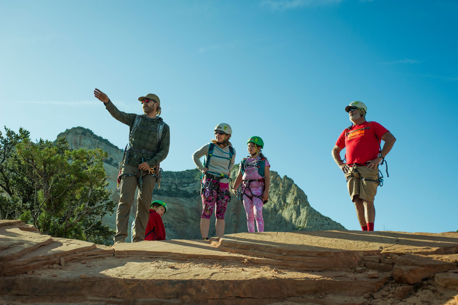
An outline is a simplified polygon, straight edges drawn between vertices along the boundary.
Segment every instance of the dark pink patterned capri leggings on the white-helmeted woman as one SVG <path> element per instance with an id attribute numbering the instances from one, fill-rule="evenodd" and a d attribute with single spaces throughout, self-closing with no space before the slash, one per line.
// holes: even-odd
<path id="1" fill-rule="evenodd" d="M 213 180 L 214 181 L 214 180 Z M 212 182 L 213 182 L 212 181 Z M 218 183 L 214 181 L 213 190 L 204 190 L 202 193 L 202 216 L 201 218 L 210 219 L 216 205 L 216 219 L 224 219 L 226 208 L 230 196 L 227 194 L 229 185 L 227 183 Z"/>

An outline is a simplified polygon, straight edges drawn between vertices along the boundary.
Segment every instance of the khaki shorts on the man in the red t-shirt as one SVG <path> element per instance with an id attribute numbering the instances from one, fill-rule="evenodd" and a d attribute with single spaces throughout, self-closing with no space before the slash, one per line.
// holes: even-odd
<path id="1" fill-rule="evenodd" d="M 374 202 L 378 183 L 361 180 L 359 178 L 364 177 L 366 179 L 378 181 L 378 166 L 374 169 L 368 169 L 365 166 L 356 166 L 355 169 L 358 170 L 359 174 L 353 171 L 353 167 L 350 167 L 350 171 L 345 174 L 345 178 L 349 179 L 347 186 L 351 200 L 353 201 L 355 195 L 360 195 L 361 199 Z"/>

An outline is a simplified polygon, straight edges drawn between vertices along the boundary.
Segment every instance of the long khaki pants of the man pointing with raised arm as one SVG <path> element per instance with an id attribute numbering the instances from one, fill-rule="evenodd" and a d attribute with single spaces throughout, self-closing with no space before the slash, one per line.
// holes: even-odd
<path id="1" fill-rule="evenodd" d="M 122 173 L 135 174 L 137 171 L 137 167 L 126 164 Z M 127 237 L 129 214 L 131 212 L 139 178 L 140 173 L 136 174 L 136 176 L 121 177 L 121 192 L 118 209 L 116 211 L 116 235 L 114 235 L 114 242 L 125 241 Z M 142 180 L 142 191 L 139 191 L 137 196 L 137 212 L 135 215 L 134 232 L 132 232 L 133 242 L 145 239 L 145 230 L 149 219 L 149 208 L 151 206 L 151 198 L 153 197 L 154 184 L 156 183 L 156 178 L 149 174 L 143 173 Z"/>

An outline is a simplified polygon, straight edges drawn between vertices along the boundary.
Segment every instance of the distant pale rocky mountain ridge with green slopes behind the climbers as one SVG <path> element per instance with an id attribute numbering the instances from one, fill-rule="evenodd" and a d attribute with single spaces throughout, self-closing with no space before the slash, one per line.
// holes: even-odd
<path id="1" fill-rule="evenodd" d="M 71 149 L 101 148 L 108 152 L 104 168 L 107 172 L 111 198 L 119 202 L 119 191 L 116 189 L 116 177 L 119 172 L 118 163 L 123 157 L 123 151 L 108 140 L 95 135 L 91 130 L 74 127 L 60 133 L 57 137 L 65 136 Z M 234 179 L 238 166 L 234 166 L 231 177 Z M 164 215 L 164 225 L 167 239 L 199 239 L 200 215 L 202 199 L 198 195 L 200 189 L 200 171 L 188 169 L 179 172 L 164 171 L 161 188 L 157 185 L 153 191 L 153 200 L 163 200 L 169 206 L 169 212 Z M 307 196 L 294 181 L 287 176 L 281 178 L 277 172 L 270 171 L 271 187 L 269 202 L 263 208 L 266 231 L 315 231 L 315 230 L 345 230 L 340 223 L 323 216 L 310 206 Z M 136 198 L 136 196 L 135 196 Z M 134 200 L 130 222 L 135 217 L 136 202 Z M 212 216 L 214 219 L 214 215 Z M 116 214 L 106 215 L 103 219 L 110 228 L 115 228 Z M 247 232 L 246 215 L 243 204 L 232 196 L 225 215 L 225 233 Z M 213 221 L 212 221 L 213 223 Z M 213 226 L 213 225 L 212 225 Z M 210 235 L 216 236 L 214 226 L 210 226 Z"/>

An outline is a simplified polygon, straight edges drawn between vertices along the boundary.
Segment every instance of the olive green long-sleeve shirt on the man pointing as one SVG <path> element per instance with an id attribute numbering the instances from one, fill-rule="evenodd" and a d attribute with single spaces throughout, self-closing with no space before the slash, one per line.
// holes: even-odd
<path id="1" fill-rule="evenodd" d="M 123 111 L 118 110 L 116 106 L 109 100 L 108 103 L 105 104 L 105 108 L 109 111 L 109 113 L 121 123 L 125 125 L 129 125 L 129 134 L 132 130 L 134 125 L 135 118 L 137 114 L 135 113 L 125 113 Z M 161 117 L 155 118 L 148 118 L 145 114 L 142 114 L 142 120 L 140 121 L 139 126 L 145 128 L 158 128 L 159 123 L 162 121 Z M 164 124 L 164 130 L 162 132 L 162 139 L 161 143 L 158 145 L 158 132 L 157 131 L 150 131 L 145 128 L 138 127 L 132 136 L 131 141 L 129 142 L 131 147 L 138 148 L 138 149 L 146 149 L 153 153 L 146 153 L 146 152 L 131 152 L 130 155 L 137 156 L 138 158 L 130 158 L 129 163 L 134 166 L 138 166 L 142 163 L 142 158 L 146 161 L 147 158 L 151 158 L 147 161 L 150 168 L 158 165 L 162 160 L 167 157 L 169 153 L 169 146 L 170 146 L 170 130 L 169 125 Z M 158 151 L 158 152 L 157 152 Z M 156 154 L 157 152 L 157 154 Z M 127 158 L 128 156 L 126 156 Z"/>

